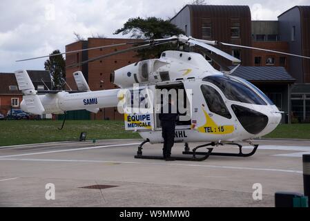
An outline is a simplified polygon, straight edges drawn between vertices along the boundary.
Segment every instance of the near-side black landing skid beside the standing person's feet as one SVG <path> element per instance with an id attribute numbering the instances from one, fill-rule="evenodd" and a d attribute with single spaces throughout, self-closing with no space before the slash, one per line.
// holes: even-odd
<path id="1" fill-rule="evenodd" d="M 135 159 L 148 159 L 148 160 L 165 160 L 162 156 L 146 156 L 142 155 L 142 146 L 146 143 L 150 142 L 150 140 L 145 140 L 138 146 L 137 155 L 135 155 Z M 206 145 L 204 145 L 206 146 Z M 208 152 L 200 152 L 200 154 L 193 154 L 193 157 L 171 157 L 172 160 L 180 160 L 180 161 L 204 161 L 208 159 L 208 157 L 211 155 L 213 148 L 208 148 Z M 191 155 L 189 151 L 186 151 L 186 155 Z M 196 155 L 203 155 L 203 157 L 196 157 Z"/>

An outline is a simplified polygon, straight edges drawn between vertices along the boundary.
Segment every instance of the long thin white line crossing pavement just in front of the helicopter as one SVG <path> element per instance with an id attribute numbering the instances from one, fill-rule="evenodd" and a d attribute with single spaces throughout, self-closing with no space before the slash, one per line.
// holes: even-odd
<path id="1" fill-rule="evenodd" d="M 271 168 L 255 168 L 255 167 L 242 167 L 242 166 L 213 166 L 202 164 L 178 164 L 178 163 L 154 163 L 154 162 L 122 162 L 122 161 L 104 161 L 104 160 L 54 160 L 54 159 L 0 159 L 10 161 L 30 161 L 30 162 L 81 162 L 81 163 L 115 163 L 115 164 L 147 164 L 158 166 L 193 166 L 204 167 L 213 169 L 235 169 L 235 170 L 247 170 L 247 171 L 269 171 L 269 172 L 283 172 L 283 173 L 302 173 L 302 171 L 294 171 L 287 169 L 271 169 Z"/>

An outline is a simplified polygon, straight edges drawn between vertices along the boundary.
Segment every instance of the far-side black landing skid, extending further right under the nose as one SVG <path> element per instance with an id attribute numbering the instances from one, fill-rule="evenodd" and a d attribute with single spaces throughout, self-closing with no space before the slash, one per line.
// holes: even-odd
<path id="1" fill-rule="evenodd" d="M 239 147 L 239 153 L 210 153 L 210 155 L 214 156 L 224 156 L 224 157 L 251 157 L 251 155 L 254 155 L 254 153 L 258 150 L 258 144 L 253 144 L 253 150 L 250 153 L 243 153 L 242 152 L 242 145 L 241 144 L 236 144 L 236 143 L 227 143 L 230 145 L 235 145 Z M 196 148 L 193 148 L 193 151 L 184 151 L 183 154 L 185 155 L 204 155 L 204 152 L 196 152 L 198 148 L 202 148 L 204 146 L 215 146 L 215 142 L 209 143 L 209 144 L 204 144 L 201 146 L 197 146 Z M 224 146 L 224 144 L 220 143 L 219 145 Z"/>

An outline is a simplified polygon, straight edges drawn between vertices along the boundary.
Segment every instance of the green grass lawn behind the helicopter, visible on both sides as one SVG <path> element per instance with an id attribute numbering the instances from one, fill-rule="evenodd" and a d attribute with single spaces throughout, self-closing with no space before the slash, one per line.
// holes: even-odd
<path id="1" fill-rule="evenodd" d="M 77 120 L 66 121 L 12 120 L 0 121 L 0 146 L 78 140 L 81 132 L 87 140 L 140 138 L 138 133 L 124 130 L 124 122 Z M 310 140 L 310 124 L 283 124 L 265 138 L 300 138 Z"/>

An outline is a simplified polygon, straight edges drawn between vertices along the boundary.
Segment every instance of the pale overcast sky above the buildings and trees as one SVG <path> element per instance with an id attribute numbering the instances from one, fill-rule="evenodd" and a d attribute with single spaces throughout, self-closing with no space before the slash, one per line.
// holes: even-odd
<path id="1" fill-rule="evenodd" d="M 191 0 L 1 0 L 0 73 L 17 69 L 43 70 L 45 59 L 16 63 L 15 60 L 64 52 L 83 37 L 113 32 L 131 17 L 173 17 Z M 293 6 L 310 5 L 310 0 L 208 0 L 213 5 L 249 5 L 252 19 L 276 20 Z"/>

